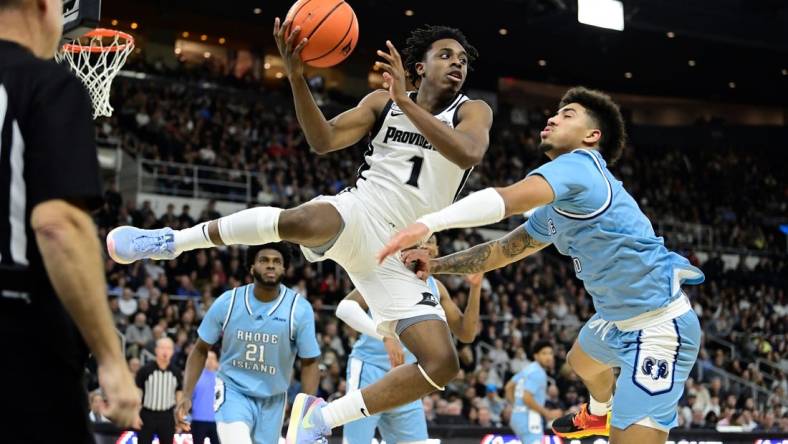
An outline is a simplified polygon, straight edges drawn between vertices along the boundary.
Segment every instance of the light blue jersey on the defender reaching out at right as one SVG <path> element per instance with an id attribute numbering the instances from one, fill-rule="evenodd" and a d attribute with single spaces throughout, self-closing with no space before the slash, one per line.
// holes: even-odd
<path id="1" fill-rule="evenodd" d="M 597 313 L 606 321 L 630 319 L 665 307 L 682 283 L 703 273 L 665 248 L 635 200 L 595 150 L 577 149 L 532 171 L 552 187 L 555 200 L 525 223 L 535 239 L 572 257 Z"/>

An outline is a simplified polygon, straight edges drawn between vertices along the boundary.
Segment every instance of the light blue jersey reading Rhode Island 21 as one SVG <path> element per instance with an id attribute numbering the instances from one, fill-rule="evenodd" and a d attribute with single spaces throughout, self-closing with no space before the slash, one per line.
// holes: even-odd
<path id="1" fill-rule="evenodd" d="M 222 339 L 218 378 L 254 398 L 287 392 L 296 355 L 320 355 L 312 306 L 284 285 L 267 303 L 254 297 L 254 284 L 226 291 L 197 332 L 209 344 Z"/>

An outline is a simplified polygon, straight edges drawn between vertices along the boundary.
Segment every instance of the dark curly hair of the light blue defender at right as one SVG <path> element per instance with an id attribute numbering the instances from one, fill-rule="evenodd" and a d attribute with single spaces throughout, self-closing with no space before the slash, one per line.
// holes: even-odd
<path id="1" fill-rule="evenodd" d="M 602 132 L 602 137 L 599 139 L 599 152 L 608 164 L 616 163 L 627 143 L 624 118 L 616 102 L 601 91 L 576 86 L 564 94 L 558 108 L 570 103 L 579 103 L 588 111 L 588 115 Z"/>

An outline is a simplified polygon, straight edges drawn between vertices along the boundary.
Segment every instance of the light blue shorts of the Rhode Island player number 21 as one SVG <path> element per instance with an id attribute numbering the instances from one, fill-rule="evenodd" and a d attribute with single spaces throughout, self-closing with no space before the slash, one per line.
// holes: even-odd
<path id="1" fill-rule="evenodd" d="M 253 398 L 216 378 L 216 422 L 243 422 L 252 431 L 254 443 L 278 443 L 282 436 L 287 394 Z"/>

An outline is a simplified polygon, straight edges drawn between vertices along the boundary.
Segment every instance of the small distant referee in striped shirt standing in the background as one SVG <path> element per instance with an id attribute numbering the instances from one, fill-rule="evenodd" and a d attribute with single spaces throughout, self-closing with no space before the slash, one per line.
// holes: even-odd
<path id="1" fill-rule="evenodd" d="M 171 443 L 175 435 L 175 404 L 180 401 L 181 372 L 172 364 L 175 344 L 168 337 L 156 341 L 156 359 L 137 372 L 137 387 L 142 389 L 142 430 L 138 444 L 153 442 L 153 434 L 160 443 Z"/>

